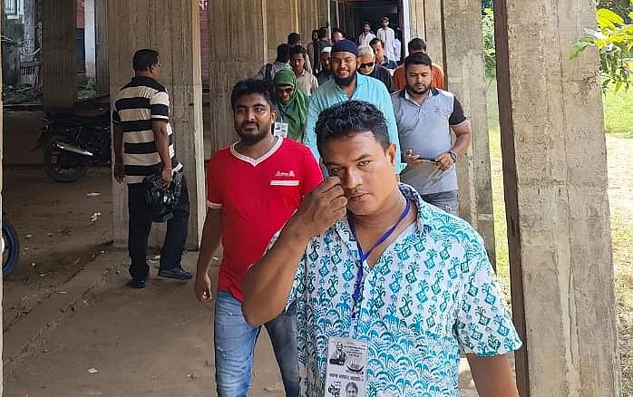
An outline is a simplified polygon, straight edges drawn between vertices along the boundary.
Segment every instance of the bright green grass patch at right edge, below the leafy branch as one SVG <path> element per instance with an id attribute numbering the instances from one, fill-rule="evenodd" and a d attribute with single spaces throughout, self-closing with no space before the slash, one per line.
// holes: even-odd
<path id="1" fill-rule="evenodd" d="M 628 92 L 609 90 L 602 96 L 605 129 L 623 138 L 633 138 L 633 87 Z"/>

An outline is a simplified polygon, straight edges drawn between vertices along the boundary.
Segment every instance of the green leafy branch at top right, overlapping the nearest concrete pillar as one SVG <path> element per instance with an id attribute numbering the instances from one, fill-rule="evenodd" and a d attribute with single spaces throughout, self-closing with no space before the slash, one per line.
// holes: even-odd
<path id="1" fill-rule="evenodd" d="M 633 5 L 633 0 L 629 0 Z M 629 13 L 633 19 L 633 12 Z M 600 8 L 597 16 L 598 30 L 585 29 L 585 35 L 571 48 L 570 59 L 579 56 L 589 46 L 598 48 L 602 89 L 613 86 L 615 92 L 622 87 L 628 90 L 633 82 L 631 74 L 631 50 L 633 49 L 633 24 L 627 24 L 617 13 Z"/>

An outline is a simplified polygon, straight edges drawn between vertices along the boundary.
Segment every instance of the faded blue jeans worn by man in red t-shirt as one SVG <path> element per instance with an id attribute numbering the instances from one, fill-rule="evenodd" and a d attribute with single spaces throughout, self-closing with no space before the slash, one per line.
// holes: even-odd
<path id="1" fill-rule="evenodd" d="M 286 396 L 298 397 L 297 304 L 264 326 L 273 344 Z M 248 325 L 239 300 L 228 291 L 218 291 L 214 324 L 218 397 L 247 397 L 260 331 L 261 327 Z"/>

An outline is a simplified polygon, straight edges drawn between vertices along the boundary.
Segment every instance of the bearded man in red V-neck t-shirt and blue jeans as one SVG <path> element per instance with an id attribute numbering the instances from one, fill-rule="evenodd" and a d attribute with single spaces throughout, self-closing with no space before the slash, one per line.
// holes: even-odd
<path id="1" fill-rule="evenodd" d="M 211 298 L 209 266 L 224 247 L 219 267 L 214 342 L 219 397 L 246 397 L 260 327 L 241 312 L 243 277 L 270 238 L 297 210 L 301 199 L 322 180 L 317 161 L 305 146 L 274 136 L 277 119 L 272 86 L 260 80 L 238 82 L 231 94 L 239 141 L 219 150 L 207 168 L 207 218 L 202 232 L 195 293 Z M 275 350 L 287 396 L 298 396 L 297 307 L 264 324 Z"/>

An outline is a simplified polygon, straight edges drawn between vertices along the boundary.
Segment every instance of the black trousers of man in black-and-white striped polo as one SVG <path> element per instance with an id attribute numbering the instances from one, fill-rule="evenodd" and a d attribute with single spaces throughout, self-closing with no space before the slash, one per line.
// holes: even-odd
<path id="1" fill-rule="evenodd" d="M 130 225 L 128 234 L 128 252 L 131 257 L 130 276 L 143 280 L 150 272 L 147 264 L 147 240 L 151 230 L 151 212 L 143 197 L 142 183 L 128 185 L 128 211 Z M 187 241 L 189 227 L 189 191 L 187 179 L 182 176 L 180 201 L 173 208 L 173 218 L 167 221 L 167 233 L 161 250 L 160 270 L 180 266 L 182 252 Z"/>

